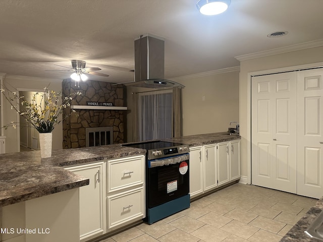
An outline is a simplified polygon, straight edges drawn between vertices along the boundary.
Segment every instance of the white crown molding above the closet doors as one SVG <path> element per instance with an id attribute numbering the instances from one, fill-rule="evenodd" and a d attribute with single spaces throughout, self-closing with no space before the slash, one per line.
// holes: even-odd
<path id="1" fill-rule="evenodd" d="M 243 54 L 243 55 L 238 55 L 235 56 L 235 58 L 238 61 L 247 61 L 248 59 L 254 59 L 254 58 L 259 58 L 259 57 L 265 57 L 269 55 L 275 55 L 275 54 L 281 54 L 281 53 L 287 53 L 287 52 L 292 52 L 296 50 L 302 50 L 302 49 L 308 49 L 308 48 L 314 48 L 314 47 L 319 47 L 323 45 L 323 39 L 319 40 L 314 40 L 314 41 L 309 41 L 301 44 L 293 44 L 285 47 L 279 47 L 275 49 L 270 49 L 270 50 L 264 50 L 264 51 L 259 51 L 255 53 L 250 53 L 250 54 Z"/>

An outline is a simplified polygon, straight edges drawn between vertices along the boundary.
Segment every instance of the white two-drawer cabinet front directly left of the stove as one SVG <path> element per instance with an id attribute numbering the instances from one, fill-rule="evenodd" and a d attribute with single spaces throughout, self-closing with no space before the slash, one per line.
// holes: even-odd
<path id="1" fill-rule="evenodd" d="M 145 217 L 145 157 L 107 160 L 107 231 Z"/>

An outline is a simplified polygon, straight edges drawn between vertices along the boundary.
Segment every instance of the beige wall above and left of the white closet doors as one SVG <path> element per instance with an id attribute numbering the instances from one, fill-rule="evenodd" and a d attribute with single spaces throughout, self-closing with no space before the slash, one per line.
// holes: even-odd
<path id="1" fill-rule="evenodd" d="M 298 65 L 323 62 L 323 46 L 297 50 L 282 54 L 254 58 L 240 63 L 240 135 L 241 139 L 241 175 L 247 177 L 248 158 L 247 144 L 250 127 L 247 127 L 248 115 L 248 73 L 271 70 L 277 68 L 286 68 Z M 250 98 L 250 97 L 249 97 Z"/>

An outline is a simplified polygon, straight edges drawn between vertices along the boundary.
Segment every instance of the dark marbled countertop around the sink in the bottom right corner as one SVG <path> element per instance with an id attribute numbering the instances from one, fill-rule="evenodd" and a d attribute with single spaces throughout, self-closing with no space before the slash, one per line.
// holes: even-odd
<path id="1" fill-rule="evenodd" d="M 304 231 L 315 220 L 323 210 L 323 198 L 319 199 L 315 206 L 311 207 L 307 213 L 286 233 L 280 242 L 321 242 L 322 240 L 311 238 Z"/>

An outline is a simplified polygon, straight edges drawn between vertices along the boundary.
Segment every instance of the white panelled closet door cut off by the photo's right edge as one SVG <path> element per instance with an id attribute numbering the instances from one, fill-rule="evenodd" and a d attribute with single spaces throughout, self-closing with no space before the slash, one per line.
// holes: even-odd
<path id="1" fill-rule="evenodd" d="M 298 72 L 297 194 L 323 195 L 323 69 Z"/>

